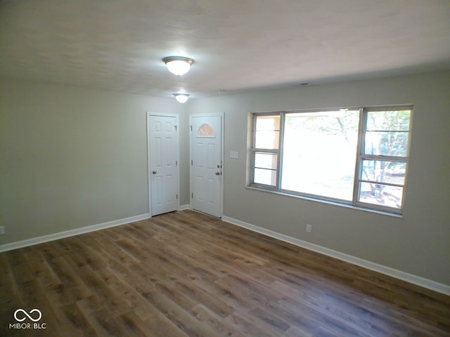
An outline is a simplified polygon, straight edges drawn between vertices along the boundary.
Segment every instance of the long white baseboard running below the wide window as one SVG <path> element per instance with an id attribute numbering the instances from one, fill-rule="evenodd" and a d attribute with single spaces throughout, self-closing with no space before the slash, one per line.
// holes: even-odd
<path id="1" fill-rule="evenodd" d="M 311 242 L 306 242 L 297 239 L 295 237 L 290 237 L 285 234 L 274 232 L 273 230 L 266 230 L 266 228 L 259 227 L 257 225 L 252 225 L 250 223 L 245 223 L 241 220 L 236 220 L 228 216 L 223 216 L 222 220 L 226 221 L 227 223 L 237 225 L 239 227 L 247 228 L 248 230 L 252 230 L 253 232 L 258 232 L 268 237 L 274 237 L 275 239 L 281 240 L 283 242 L 288 242 L 289 244 L 294 244 L 295 246 L 300 246 L 302 248 L 309 249 L 310 251 L 315 251 L 316 253 L 321 253 L 323 255 L 330 256 L 332 258 L 338 258 L 338 260 L 352 263 L 354 265 L 359 265 L 360 267 L 364 267 L 368 270 L 380 272 L 381 274 L 388 275 L 390 277 L 395 277 L 396 279 L 401 279 L 403 281 L 416 284 L 418 286 L 423 286 L 424 288 L 427 289 L 438 291 L 439 293 L 450 295 L 450 286 L 447 284 L 442 284 L 439 282 L 432 281 L 430 279 L 425 279 L 424 277 L 412 275 L 407 272 L 402 272 L 401 270 L 387 267 L 385 265 L 379 265 L 378 263 L 373 263 L 371 261 L 364 260 L 362 258 L 356 258 L 356 256 L 341 253 L 340 251 L 334 251 L 333 249 L 328 249 L 326 247 L 319 246 L 317 244 L 311 244 Z"/>

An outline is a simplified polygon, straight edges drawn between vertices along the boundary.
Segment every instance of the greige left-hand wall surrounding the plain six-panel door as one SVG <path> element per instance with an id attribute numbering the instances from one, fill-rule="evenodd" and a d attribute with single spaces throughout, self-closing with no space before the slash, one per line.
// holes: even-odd
<path id="1" fill-rule="evenodd" d="M 150 98 L 0 82 L 0 244 L 148 213 L 146 112 L 186 107 Z M 186 142 L 181 142 L 181 146 Z M 181 205 L 188 148 L 181 148 Z"/>

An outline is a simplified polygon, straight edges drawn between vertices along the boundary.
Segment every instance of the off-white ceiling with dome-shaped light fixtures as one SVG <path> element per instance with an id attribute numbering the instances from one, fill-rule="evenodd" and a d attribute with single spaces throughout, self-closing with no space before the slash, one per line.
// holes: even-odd
<path id="1" fill-rule="evenodd" d="M 449 0 L 0 0 L 4 77 L 201 98 L 444 69 Z"/>

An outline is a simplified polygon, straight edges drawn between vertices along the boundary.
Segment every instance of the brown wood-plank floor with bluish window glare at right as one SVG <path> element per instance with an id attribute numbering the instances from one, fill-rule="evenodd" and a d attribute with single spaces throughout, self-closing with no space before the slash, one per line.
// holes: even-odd
<path id="1" fill-rule="evenodd" d="M 0 268 L 0 336 L 450 336 L 450 296 L 193 211 L 1 253 Z M 10 329 L 19 308 L 46 329 Z"/>

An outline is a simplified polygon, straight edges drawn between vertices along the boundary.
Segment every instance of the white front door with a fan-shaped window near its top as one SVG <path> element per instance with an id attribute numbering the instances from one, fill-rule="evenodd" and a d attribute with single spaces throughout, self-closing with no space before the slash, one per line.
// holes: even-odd
<path id="1" fill-rule="evenodd" d="M 191 207 L 222 216 L 222 115 L 191 115 Z"/>

